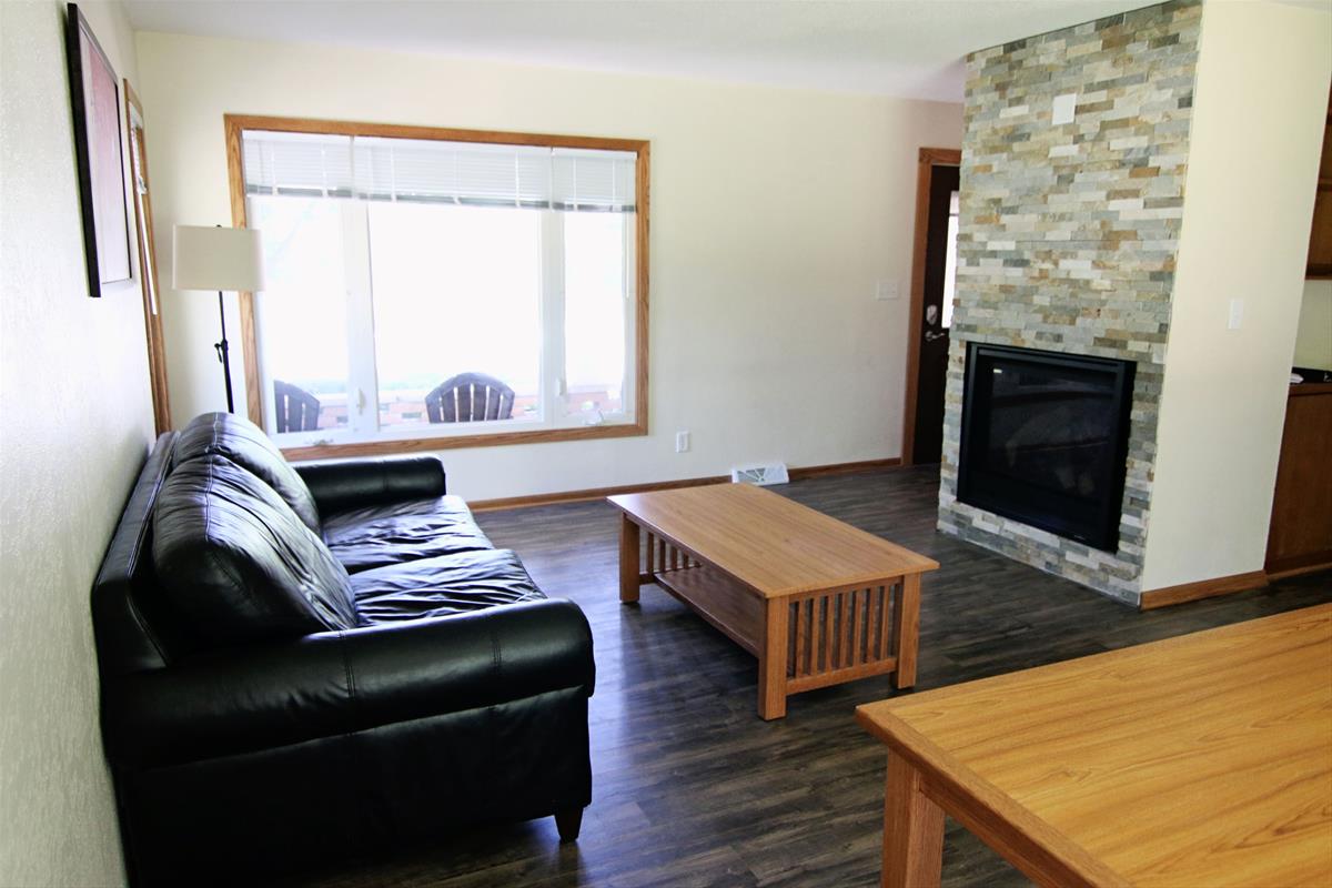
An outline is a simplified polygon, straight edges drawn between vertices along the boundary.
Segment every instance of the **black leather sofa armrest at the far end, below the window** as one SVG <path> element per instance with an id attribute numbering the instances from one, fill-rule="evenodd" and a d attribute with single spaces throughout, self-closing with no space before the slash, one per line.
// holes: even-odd
<path id="1" fill-rule="evenodd" d="M 446 493 L 444 462 L 434 455 L 292 465 L 310 489 L 320 514 L 432 499 Z"/>

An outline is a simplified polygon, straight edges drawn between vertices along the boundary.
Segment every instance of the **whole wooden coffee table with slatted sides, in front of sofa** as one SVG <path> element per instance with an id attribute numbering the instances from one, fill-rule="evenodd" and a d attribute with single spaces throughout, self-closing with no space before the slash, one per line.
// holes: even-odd
<path id="1" fill-rule="evenodd" d="M 623 513 L 619 600 L 657 583 L 757 656 L 761 718 L 870 675 L 915 683 L 920 574 L 934 559 L 751 485 L 610 502 Z"/>

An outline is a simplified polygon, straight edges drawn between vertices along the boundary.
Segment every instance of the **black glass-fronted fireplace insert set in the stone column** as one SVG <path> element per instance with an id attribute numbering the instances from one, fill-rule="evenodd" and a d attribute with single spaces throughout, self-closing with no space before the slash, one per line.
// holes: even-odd
<path id="1" fill-rule="evenodd" d="M 968 343 L 958 499 L 1115 551 L 1134 370 Z"/>

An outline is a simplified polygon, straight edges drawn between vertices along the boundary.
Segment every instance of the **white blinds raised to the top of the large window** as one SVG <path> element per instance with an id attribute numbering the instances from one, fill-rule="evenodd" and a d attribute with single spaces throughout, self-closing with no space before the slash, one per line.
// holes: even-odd
<path id="1" fill-rule="evenodd" d="M 246 130 L 250 194 L 630 213 L 634 152 Z"/>

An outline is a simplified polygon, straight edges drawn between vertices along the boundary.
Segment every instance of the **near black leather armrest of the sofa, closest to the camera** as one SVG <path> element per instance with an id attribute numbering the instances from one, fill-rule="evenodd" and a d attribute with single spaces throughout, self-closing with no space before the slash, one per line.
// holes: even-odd
<path id="1" fill-rule="evenodd" d="M 473 614 L 320 632 L 135 672 L 103 690 L 117 767 L 238 755 L 496 706 L 595 680 L 577 604 L 546 599 Z"/>

